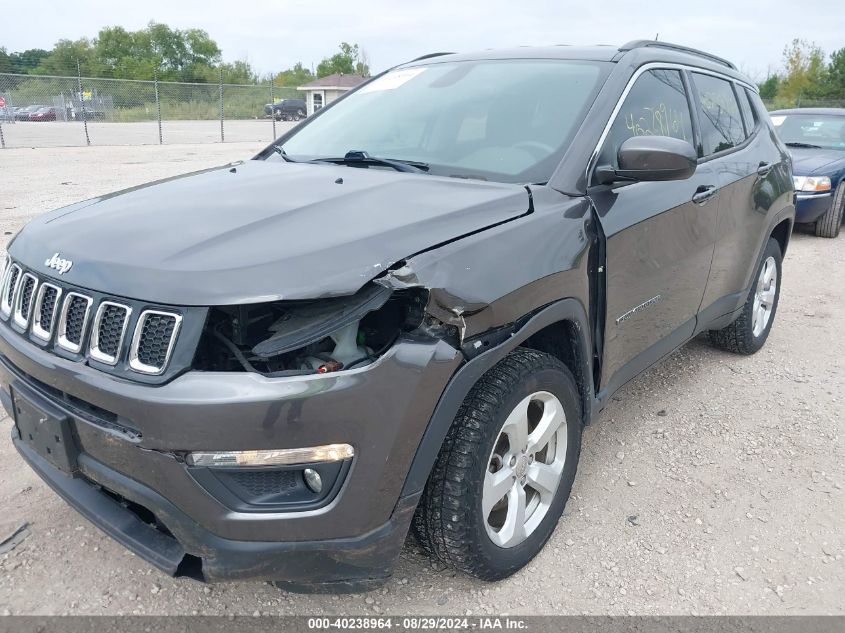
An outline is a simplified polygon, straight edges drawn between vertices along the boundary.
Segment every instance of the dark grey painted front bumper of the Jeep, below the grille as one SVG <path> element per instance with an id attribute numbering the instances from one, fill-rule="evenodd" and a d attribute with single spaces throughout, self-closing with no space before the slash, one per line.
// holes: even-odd
<path id="1" fill-rule="evenodd" d="M 10 388 L 20 388 L 70 420 L 79 451 L 73 477 L 15 438 L 68 503 L 171 575 L 293 588 L 361 588 L 389 576 L 418 498 L 401 497 L 402 487 L 460 363 L 442 341 L 404 339 L 372 365 L 331 376 L 189 372 L 149 386 L 58 358 L 0 326 L 3 404 L 11 409 Z M 113 417 L 100 419 L 101 411 Z M 180 458 L 338 442 L 355 448 L 339 490 L 302 511 L 232 507 Z M 124 507 L 135 504 L 161 529 Z"/>

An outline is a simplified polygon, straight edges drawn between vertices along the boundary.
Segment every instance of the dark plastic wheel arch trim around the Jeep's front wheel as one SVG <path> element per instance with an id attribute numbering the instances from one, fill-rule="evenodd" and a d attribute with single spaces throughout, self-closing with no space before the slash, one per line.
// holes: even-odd
<path id="1" fill-rule="evenodd" d="M 562 299 L 539 309 L 504 342 L 464 364 L 440 396 L 405 478 L 402 496 L 422 492 L 446 433 L 470 389 L 487 370 L 517 347 L 550 353 L 566 364 L 581 396 L 582 420 L 588 423 L 594 400 L 590 345 L 591 333 L 584 306 L 577 299 Z"/>

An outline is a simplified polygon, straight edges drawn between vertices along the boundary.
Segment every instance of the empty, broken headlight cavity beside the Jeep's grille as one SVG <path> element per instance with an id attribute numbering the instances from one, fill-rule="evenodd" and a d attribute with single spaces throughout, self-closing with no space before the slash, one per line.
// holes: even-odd
<path id="1" fill-rule="evenodd" d="M 281 377 L 363 367 L 403 333 L 425 332 L 427 299 L 368 284 L 348 297 L 214 307 L 195 368 Z"/>

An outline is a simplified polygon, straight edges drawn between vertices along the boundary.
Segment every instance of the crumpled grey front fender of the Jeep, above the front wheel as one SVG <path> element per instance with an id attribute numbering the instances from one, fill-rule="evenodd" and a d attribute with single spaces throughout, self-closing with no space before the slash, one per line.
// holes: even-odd
<path id="1" fill-rule="evenodd" d="M 531 193 L 532 213 L 412 256 L 374 281 L 425 288 L 426 314 L 458 328 L 461 345 L 559 299 L 589 305 L 589 201 L 547 187 Z"/>

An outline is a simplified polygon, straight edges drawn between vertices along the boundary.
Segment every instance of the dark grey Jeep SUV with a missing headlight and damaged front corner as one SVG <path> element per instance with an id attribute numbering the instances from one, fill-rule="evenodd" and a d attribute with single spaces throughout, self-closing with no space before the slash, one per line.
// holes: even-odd
<path id="1" fill-rule="evenodd" d="M 25 227 L 12 440 L 171 575 L 363 589 L 410 529 L 504 578 L 616 390 L 699 333 L 764 344 L 790 167 L 754 84 L 700 51 L 412 61 L 253 160 Z"/>

